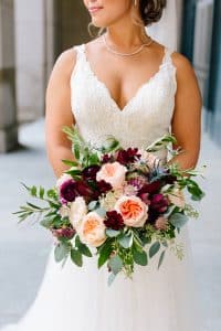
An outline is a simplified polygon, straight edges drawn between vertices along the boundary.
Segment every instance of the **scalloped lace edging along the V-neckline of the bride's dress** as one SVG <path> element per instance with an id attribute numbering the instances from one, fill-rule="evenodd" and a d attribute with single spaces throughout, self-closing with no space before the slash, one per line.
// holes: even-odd
<path id="1" fill-rule="evenodd" d="M 148 78 L 147 81 L 145 81 L 136 90 L 136 93 L 134 94 L 134 96 L 125 104 L 125 106 L 123 108 L 120 108 L 118 106 L 118 104 L 116 103 L 116 100 L 114 99 L 114 97 L 110 94 L 109 88 L 106 86 L 106 84 L 99 79 L 99 77 L 95 74 L 95 72 L 92 70 L 91 63 L 86 56 L 86 47 L 85 47 L 85 43 L 82 44 L 83 47 L 83 54 L 84 54 L 84 60 L 85 63 L 87 64 L 88 71 L 92 74 L 92 76 L 96 79 L 97 84 L 104 88 L 104 90 L 107 94 L 107 97 L 109 98 L 109 100 L 112 102 L 113 106 L 115 107 L 115 109 L 117 110 L 117 113 L 123 114 L 125 113 L 127 109 L 129 109 L 129 106 L 133 104 L 133 102 L 138 97 L 139 93 L 143 90 L 143 88 L 145 88 L 146 86 L 148 86 L 161 72 L 161 67 L 165 64 L 165 60 L 166 60 L 166 55 L 167 55 L 167 46 L 164 46 L 164 56 L 162 60 L 160 62 L 160 65 L 157 70 L 157 72 L 150 76 L 150 78 Z"/>

